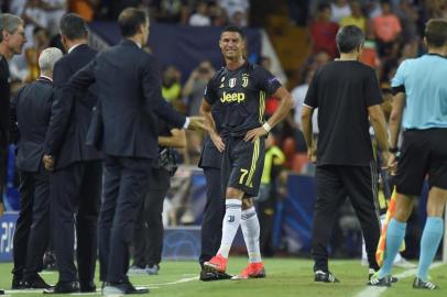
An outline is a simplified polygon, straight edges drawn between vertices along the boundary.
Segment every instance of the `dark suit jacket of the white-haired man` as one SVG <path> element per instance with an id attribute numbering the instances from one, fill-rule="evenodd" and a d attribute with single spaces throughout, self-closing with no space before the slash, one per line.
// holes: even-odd
<path id="1" fill-rule="evenodd" d="M 18 142 L 17 166 L 21 170 L 39 172 L 52 105 L 53 84 L 44 77 L 21 88 L 11 102 L 11 139 Z"/>

